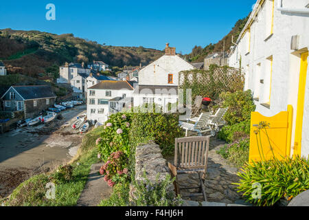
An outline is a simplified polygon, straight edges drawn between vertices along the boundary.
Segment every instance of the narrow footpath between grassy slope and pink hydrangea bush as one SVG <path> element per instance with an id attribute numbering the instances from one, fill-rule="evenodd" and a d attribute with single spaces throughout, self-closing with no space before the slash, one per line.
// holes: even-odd
<path id="1" fill-rule="evenodd" d="M 84 186 L 76 206 L 98 206 L 102 199 L 108 199 L 111 196 L 112 188 L 98 173 L 102 165 L 92 164 L 86 186 Z"/>

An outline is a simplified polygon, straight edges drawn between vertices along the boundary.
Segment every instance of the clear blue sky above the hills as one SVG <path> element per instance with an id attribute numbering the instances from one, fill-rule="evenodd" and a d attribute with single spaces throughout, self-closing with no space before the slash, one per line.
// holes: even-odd
<path id="1" fill-rule="evenodd" d="M 47 3 L 56 21 L 47 21 Z M 73 33 L 115 46 L 143 46 L 190 53 L 194 45 L 217 43 L 246 17 L 255 0 L 36 0 L 1 1 L 0 29 Z"/>

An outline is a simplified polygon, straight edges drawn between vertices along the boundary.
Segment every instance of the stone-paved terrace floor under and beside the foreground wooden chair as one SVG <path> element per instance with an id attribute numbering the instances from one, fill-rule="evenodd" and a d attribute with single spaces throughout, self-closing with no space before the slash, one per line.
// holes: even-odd
<path id="1" fill-rule="evenodd" d="M 207 177 L 205 179 L 205 189 L 207 201 L 220 203 L 241 203 L 246 204 L 241 199 L 241 194 L 237 192 L 236 186 L 232 183 L 240 179 L 236 173 L 240 170 L 227 163 L 226 159 L 216 153 L 226 143 L 222 140 L 211 137 L 209 144 L 209 157 L 207 164 Z M 172 162 L 172 159 L 168 159 Z M 180 188 L 199 186 L 197 174 L 178 175 Z M 198 192 L 198 189 L 181 190 L 181 195 Z M 192 201 L 203 201 L 201 197 L 183 197 Z"/>

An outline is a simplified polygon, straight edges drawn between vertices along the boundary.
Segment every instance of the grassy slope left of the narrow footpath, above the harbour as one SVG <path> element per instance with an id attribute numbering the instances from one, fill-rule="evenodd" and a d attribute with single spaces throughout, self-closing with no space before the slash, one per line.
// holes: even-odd
<path id="1" fill-rule="evenodd" d="M 20 184 L 5 201 L 5 206 L 75 206 L 86 184 L 91 164 L 98 162 L 95 140 L 102 129 L 102 126 L 98 127 L 85 135 L 78 154 L 70 162 L 73 166 L 73 179 L 56 185 L 56 199 L 45 197 L 45 186 L 52 173 L 56 172 L 53 170 L 51 173 L 35 175 Z"/>

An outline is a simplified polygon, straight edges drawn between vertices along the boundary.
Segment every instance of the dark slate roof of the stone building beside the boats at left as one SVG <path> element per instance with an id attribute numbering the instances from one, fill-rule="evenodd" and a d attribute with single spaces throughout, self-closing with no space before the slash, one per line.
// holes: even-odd
<path id="1" fill-rule="evenodd" d="M 25 85 L 12 86 L 23 97 L 24 100 L 37 98 L 54 98 L 56 95 L 52 91 L 52 87 L 47 85 Z"/>

